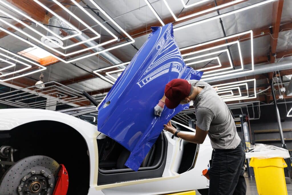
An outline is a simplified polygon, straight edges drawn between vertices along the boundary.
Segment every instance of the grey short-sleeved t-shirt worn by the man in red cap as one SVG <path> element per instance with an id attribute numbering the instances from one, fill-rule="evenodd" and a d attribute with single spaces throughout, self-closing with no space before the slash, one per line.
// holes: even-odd
<path id="1" fill-rule="evenodd" d="M 194 87 L 202 87 L 202 91 L 194 100 L 196 125 L 208 131 L 214 149 L 235 149 L 239 138 L 232 115 L 215 89 L 204 81 L 190 80 Z"/>

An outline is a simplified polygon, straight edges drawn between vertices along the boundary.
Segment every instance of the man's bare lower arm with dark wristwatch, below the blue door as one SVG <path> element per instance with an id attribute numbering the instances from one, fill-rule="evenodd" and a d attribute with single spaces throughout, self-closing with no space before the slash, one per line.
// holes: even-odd
<path id="1" fill-rule="evenodd" d="M 171 125 L 171 122 L 169 121 L 167 125 L 164 125 L 164 128 L 166 131 L 171 132 L 174 134 L 176 132 L 176 129 Z M 181 139 L 184 139 L 186 141 L 196 143 L 196 144 L 202 144 L 208 134 L 208 131 L 201 130 L 198 126 L 196 126 L 196 134 L 190 135 L 183 132 L 178 132 L 177 136 Z"/>

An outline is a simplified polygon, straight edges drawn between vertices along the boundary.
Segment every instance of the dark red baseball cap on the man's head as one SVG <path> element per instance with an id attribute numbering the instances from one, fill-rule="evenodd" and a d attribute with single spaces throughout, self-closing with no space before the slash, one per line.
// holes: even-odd
<path id="1" fill-rule="evenodd" d="M 185 79 L 173 79 L 166 84 L 164 95 L 167 108 L 174 109 L 180 101 L 190 95 L 192 85 Z"/>

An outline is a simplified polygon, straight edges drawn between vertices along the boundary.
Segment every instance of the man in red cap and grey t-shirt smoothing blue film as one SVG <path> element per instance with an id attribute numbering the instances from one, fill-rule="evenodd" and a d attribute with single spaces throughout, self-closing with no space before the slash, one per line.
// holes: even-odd
<path id="1" fill-rule="evenodd" d="M 190 101 L 194 102 L 197 118 L 196 134 L 176 131 L 170 121 L 164 125 L 165 130 L 196 144 L 202 144 L 208 134 L 213 147 L 209 195 L 246 194 L 243 144 L 227 105 L 213 87 L 204 81 L 171 80 L 154 113 L 160 116 L 164 105 L 173 109 Z"/>

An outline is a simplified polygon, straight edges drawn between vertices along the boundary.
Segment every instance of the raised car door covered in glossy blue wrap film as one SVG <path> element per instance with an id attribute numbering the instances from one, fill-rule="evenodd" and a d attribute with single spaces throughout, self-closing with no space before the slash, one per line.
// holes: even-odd
<path id="1" fill-rule="evenodd" d="M 98 108 L 98 130 L 131 151 L 125 165 L 135 171 L 163 125 L 189 108 L 189 104 L 175 109 L 165 106 L 161 117 L 155 116 L 154 106 L 164 95 L 165 85 L 175 78 L 200 80 L 203 74 L 185 65 L 173 37 L 172 24 L 152 30 Z"/>

